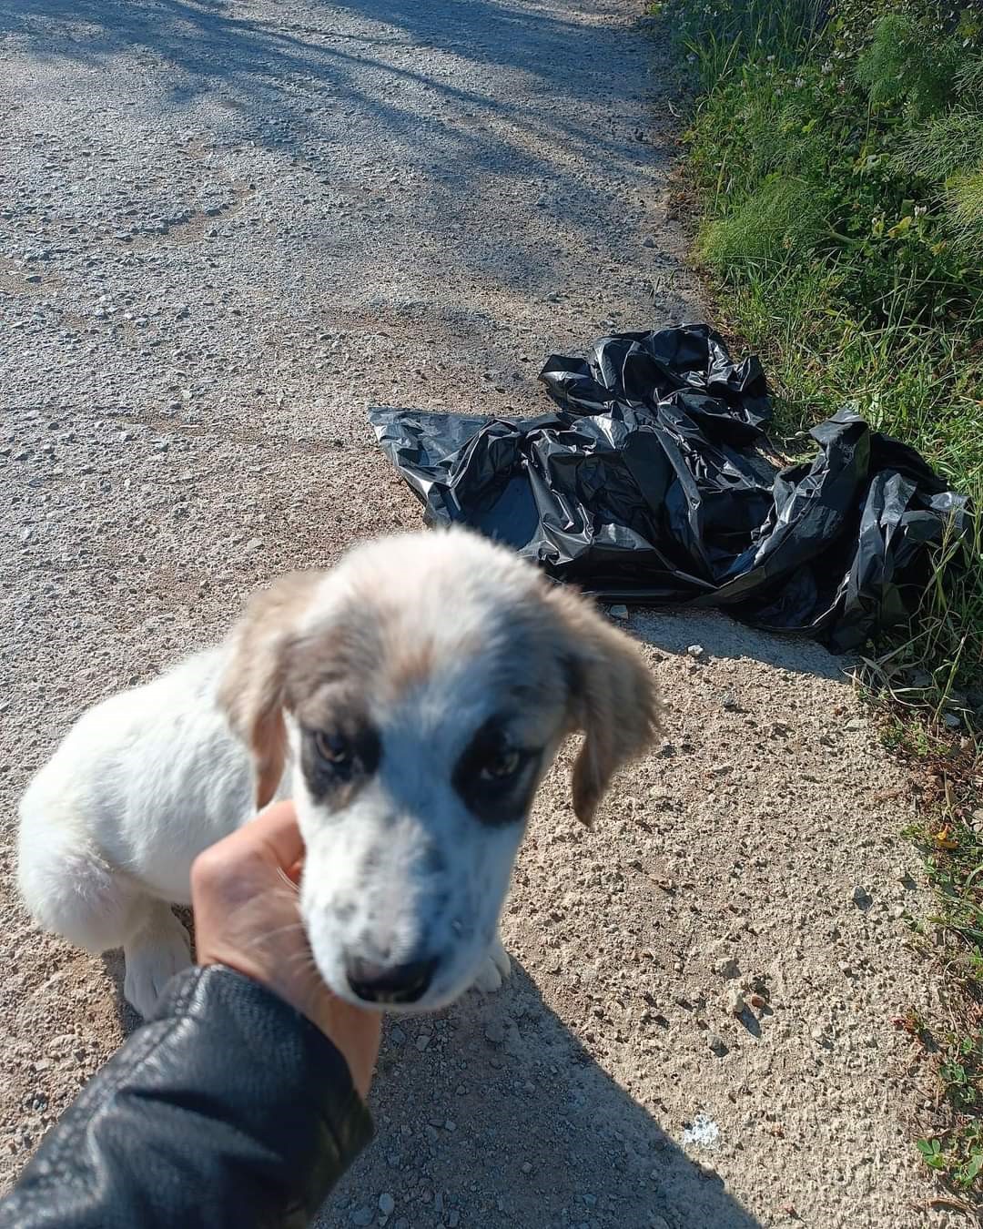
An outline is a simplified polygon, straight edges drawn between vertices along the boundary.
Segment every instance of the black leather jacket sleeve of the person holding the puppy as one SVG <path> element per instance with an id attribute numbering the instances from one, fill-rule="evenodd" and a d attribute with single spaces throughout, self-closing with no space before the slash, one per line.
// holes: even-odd
<path id="1" fill-rule="evenodd" d="M 231 968 L 192 968 L 44 1138 L 0 1227 L 294 1229 L 371 1134 L 318 1029 Z"/>

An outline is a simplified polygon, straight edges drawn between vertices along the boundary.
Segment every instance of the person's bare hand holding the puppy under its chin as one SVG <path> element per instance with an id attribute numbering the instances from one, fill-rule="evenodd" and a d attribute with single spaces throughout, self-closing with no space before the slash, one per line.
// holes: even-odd
<path id="1" fill-rule="evenodd" d="M 304 857 L 292 803 L 278 803 L 192 866 L 199 965 L 227 965 L 286 999 L 338 1047 L 364 1099 L 381 1016 L 337 998 L 321 980 L 297 908 Z"/>

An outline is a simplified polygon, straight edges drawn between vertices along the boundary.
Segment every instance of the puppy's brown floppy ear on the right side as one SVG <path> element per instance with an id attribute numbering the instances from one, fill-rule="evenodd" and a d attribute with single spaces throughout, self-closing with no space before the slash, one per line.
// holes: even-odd
<path id="1" fill-rule="evenodd" d="M 585 735 L 574 763 L 574 812 L 590 827 L 614 773 L 654 741 L 659 692 L 635 643 L 586 599 L 557 587 L 548 601 L 566 642 L 570 728 Z"/>

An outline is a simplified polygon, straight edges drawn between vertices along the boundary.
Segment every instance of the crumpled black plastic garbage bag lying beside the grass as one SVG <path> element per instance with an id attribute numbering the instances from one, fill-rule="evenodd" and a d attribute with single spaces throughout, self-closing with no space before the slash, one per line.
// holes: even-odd
<path id="1" fill-rule="evenodd" d="M 598 340 L 541 372 L 530 419 L 378 408 L 370 419 L 431 525 L 461 522 L 608 601 L 721 606 L 834 651 L 915 608 L 966 499 L 849 410 L 780 469 L 757 359 L 702 324 Z"/>

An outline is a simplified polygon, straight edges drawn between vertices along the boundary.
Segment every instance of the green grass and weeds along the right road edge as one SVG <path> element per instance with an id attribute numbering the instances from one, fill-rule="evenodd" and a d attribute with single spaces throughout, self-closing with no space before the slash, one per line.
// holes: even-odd
<path id="1" fill-rule="evenodd" d="M 764 363 L 788 452 L 850 404 L 971 499 L 864 682 L 913 768 L 946 1013 L 899 1018 L 935 1104 L 939 1198 L 983 1200 L 983 5 L 666 0 L 694 70 L 679 195 L 724 328 Z"/>

